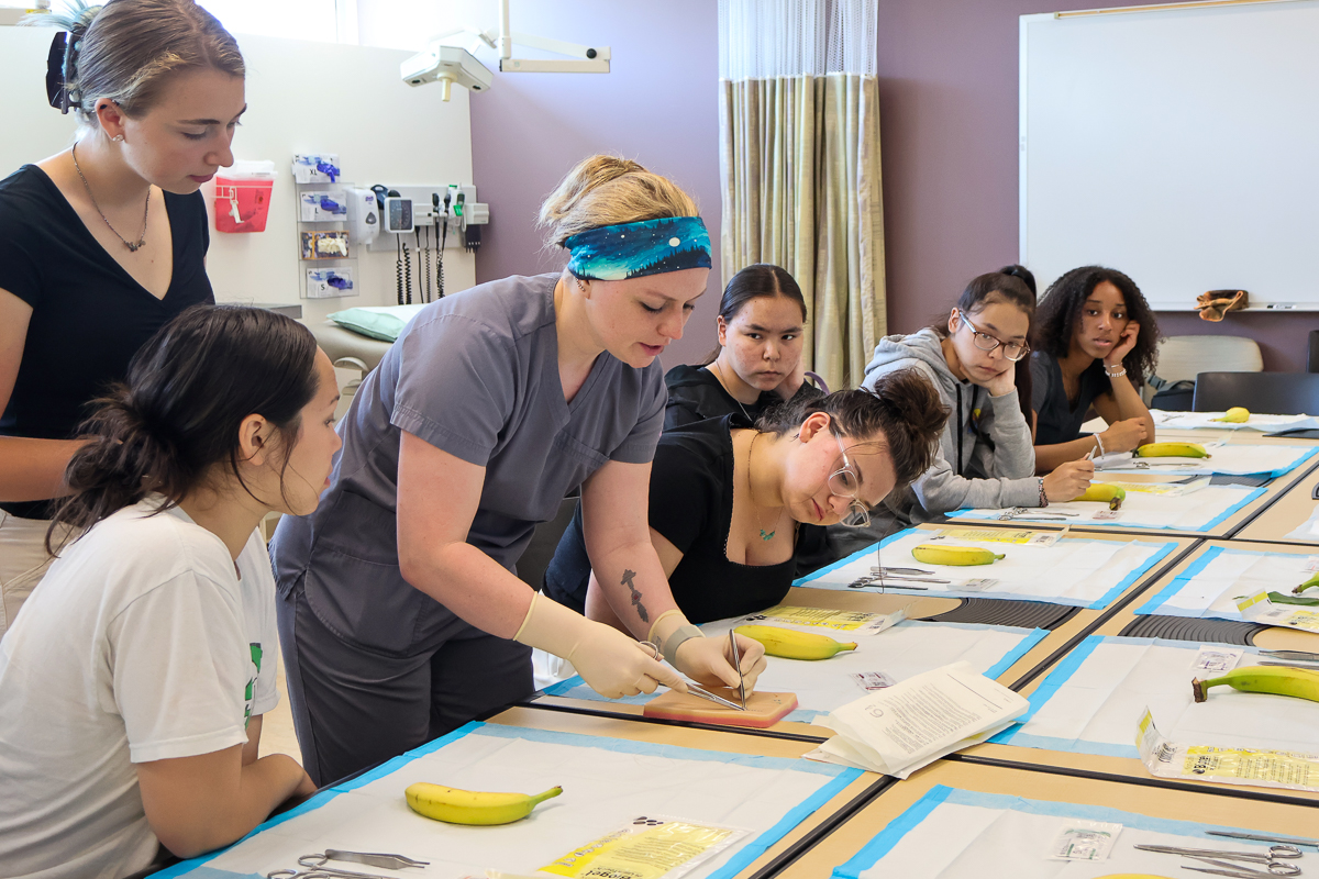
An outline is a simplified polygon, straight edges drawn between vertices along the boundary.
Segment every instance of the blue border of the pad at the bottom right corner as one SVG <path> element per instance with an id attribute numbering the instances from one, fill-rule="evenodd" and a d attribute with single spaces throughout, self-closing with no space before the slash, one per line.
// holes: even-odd
<path id="1" fill-rule="evenodd" d="M 1178 821 L 1175 818 L 1154 818 L 1148 814 L 1122 812 L 1121 809 L 1113 809 L 1109 807 L 1028 800 L 1010 793 L 980 793 L 979 791 L 963 791 L 962 788 L 951 788 L 939 784 L 930 788 L 925 796 L 907 807 L 902 814 L 893 818 L 893 821 L 890 821 L 884 830 L 867 842 L 860 851 L 852 855 L 851 859 L 838 867 L 834 867 L 831 879 L 860 879 L 861 872 L 878 863 L 880 858 L 892 851 L 902 837 L 910 833 L 922 821 L 929 818 L 930 813 L 944 803 L 951 805 L 979 807 L 984 809 L 1008 809 L 1012 812 L 1045 814 L 1059 818 L 1104 821 L 1120 824 L 1124 829 L 1132 828 L 1136 830 L 1146 830 L 1149 833 L 1191 837 L 1194 839 L 1203 839 L 1204 842 L 1215 842 L 1215 838 L 1208 836 L 1210 830 L 1240 830 L 1240 828 L 1231 828 L 1225 825 Z"/>

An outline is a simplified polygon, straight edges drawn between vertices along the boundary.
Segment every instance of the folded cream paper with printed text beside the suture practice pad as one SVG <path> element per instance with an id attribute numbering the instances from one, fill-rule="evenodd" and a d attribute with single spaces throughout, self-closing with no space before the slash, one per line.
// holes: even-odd
<path id="1" fill-rule="evenodd" d="M 1029 708 L 969 663 L 954 663 L 835 709 L 823 725 L 838 735 L 807 756 L 905 779 L 1002 731 Z"/>

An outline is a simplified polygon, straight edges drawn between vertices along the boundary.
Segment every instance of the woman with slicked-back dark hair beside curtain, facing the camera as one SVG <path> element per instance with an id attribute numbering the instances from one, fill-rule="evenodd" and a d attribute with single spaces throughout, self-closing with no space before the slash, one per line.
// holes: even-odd
<path id="1" fill-rule="evenodd" d="M 799 394 L 823 395 L 802 366 L 805 324 L 802 289 L 785 269 L 758 262 L 735 274 L 719 302 L 716 356 L 703 366 L 679 364 L 663 377 L 663 428 L 732 412 L 754 420 Z"/>

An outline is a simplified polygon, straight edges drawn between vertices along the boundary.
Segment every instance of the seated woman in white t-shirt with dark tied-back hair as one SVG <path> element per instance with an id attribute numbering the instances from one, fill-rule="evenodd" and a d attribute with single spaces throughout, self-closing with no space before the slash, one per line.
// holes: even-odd
<path id="1" fill-rule="evenodd" d="M 115 879 L 314 791 L 257 756 L 278 648 L 256 527 L 315 509 L 338 398 L 305 327 L 199 306 L 84 424 L 55 517 L 82 536 L 0 640 L 0 876 Z"/>

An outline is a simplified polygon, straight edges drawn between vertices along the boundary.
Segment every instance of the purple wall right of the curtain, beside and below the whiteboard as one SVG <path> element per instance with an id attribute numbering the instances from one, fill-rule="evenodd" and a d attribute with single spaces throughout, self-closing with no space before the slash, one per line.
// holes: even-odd
<path id="1" fill-rule="evenodd" d="M 890 332 L 917 329 L 946 311 L 973 275 L 1016 262 L 1017 17 L 1099 5 L 1105 4 L 880 0 Z M 1319 320 L 1246 314 L 1215 324 L 1165 312 L 1159 328 L 1249 336 L 1260 343 L 1265 369 L 1303 370 L 1307 333 Z"/>

